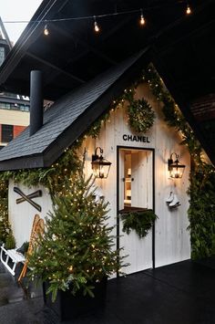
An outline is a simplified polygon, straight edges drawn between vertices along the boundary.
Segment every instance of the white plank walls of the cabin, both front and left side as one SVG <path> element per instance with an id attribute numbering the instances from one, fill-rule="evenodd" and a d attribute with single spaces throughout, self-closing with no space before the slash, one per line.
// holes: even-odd
<path id="1" fill-rule="evenodd" d="M 92 172 L 91 158 L 97 146 L 104 150 L 104 157 L 112 162 L 107 179 L 97 179 L 96 185 L 105 195 L 109 209 L 109 225 L 115 225 L 114 235 L 117 234 L 117 204 L 118 204 L 118 186 L 117 186 L 117 165 L 118 165 L 118 146 L 133 147 L 139 149 L 152 150 L 154 154 L 154 185 L 153 194 L 149 197 L 149 204 L 154 206 L 155 213 L 159 219 L 155 224 L 155 259 L 152 260 L 152 231 L 149 231 L 147 237 L 139 239 L 135 233 L 126 235 L 122 232 L 122 224 L 119 222 L 119 246 L 125 247 L 126 259 L 130 263 L 126 272 L 132 273 L 148 267 L 160 267 L 171 263 L 188 259 L 190 256 L 189 231 L 187 227 L 189 197 L 187 190 L 189 187 L 189 152 L 185 146 L 179 145 L 181 138 L 177 131 L 169 128 L 161 115 L 160 103 L 151 95 L 147 86 L 138 87 L 137 98 L 144 97 L 156 111 L 155 124 L 146 134 L 140 134 L 148 139 L 148 142 L 125 141 L 123 135 L 137 135 L 128 127 L 128 119 L 123 108 L 110 112 L 110 118 L 106 124 L 102 125 L 102 130 L 98 138 L 87 138 L 82 146 L 82 152 L 86 148 L 86 176 Z M 169 179 L 168 159 L 170 153 L 179 154 L 179 161 L 186 164 L 185 173 L 182 179 Z M 144 154 L 143 154 L 144 155 Z M 150 154 L 149 154 L 150 155 Z M 35 202 L 40 204 L 42 212 L 39 213 L 28 203 L 16 204 L 15 200 L 19 198 L 14 192 L 14 186 L 18 186 L 25 194 L 33 193 L 41 189 L 42 197 L 35 198 Z M 170 191 L 178 194 L 180 205 L 178 208 L 170 210 L 166 199 Z M 150 206 L 148 206 L 150 207 Z M 15 235 L 17 246 L 23 244 L 29 239 L 32 222 L 35 214 L 46 216 L 48 211 L 52 210 L 51 199 L 46 188 L 34 187 L 26 188 L 23 185 L 10 182 L 9 185 L 9 220 Z M 116 245 L 117 246 L 117 245 Z"/>

